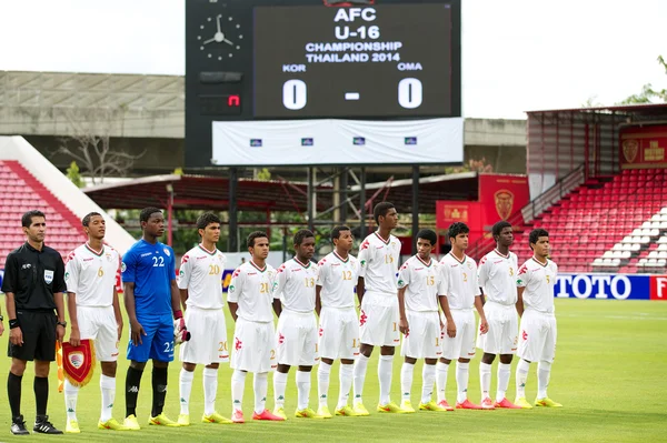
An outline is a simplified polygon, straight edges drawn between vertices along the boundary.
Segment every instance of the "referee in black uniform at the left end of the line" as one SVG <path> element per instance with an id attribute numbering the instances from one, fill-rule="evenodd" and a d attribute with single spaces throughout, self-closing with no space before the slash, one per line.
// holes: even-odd
<path id="1" fill-rule="evenodd" d="M 47 415 L 49 401 L 49 365 L 56 360 L 56 340 L 64 335 L 64 264 L 60 254 L 44 245 L 47 221 L 40 211 L 21 218 L 28 241 L 7 255 L 2 292 L 9 316 L 11 369 L 7 394 L 11 407 L 11 432 L 29 434 L 21 415 L 21 380 L 26 363 L 34 361 L 34 432 L 62 434 Z M 58 312 L 58 316 L 53 312 Z"/>

